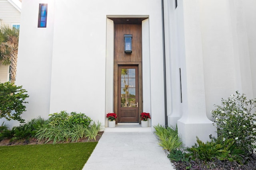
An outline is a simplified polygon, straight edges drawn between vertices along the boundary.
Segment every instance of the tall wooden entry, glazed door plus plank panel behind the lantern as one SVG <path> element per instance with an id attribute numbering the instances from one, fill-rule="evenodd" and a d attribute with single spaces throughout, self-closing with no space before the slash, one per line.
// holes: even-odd
<path id="1" fill-rule="evenodd" d="M 124 53 L 124 35 L 132 35 L 132 53 Z M 142 112 L 142 29 L 114 24 L 114 112 L 118 123 L 140 123 Z"/>

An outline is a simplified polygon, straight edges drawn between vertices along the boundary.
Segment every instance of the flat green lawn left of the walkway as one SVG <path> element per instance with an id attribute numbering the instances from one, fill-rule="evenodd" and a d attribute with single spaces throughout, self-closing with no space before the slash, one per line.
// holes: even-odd
<path id="1" fill-rule="evenodd" d="M 82 170 L 98 142 L 0 147 L 1 170 Z"/>

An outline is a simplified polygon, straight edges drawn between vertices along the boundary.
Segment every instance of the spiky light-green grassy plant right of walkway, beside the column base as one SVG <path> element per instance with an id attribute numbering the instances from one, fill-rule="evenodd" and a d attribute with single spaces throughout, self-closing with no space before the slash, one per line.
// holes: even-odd
<path id="1" fill-rule="evenodd" d="M 163 147 L 163 149 L 170 151 L 182 145 L 182 141 L 180 141 L 180 137 L 178 136 L 177 127 L 156 125 L 154 128 L 156 129 L 155 134 L 159 138 L 158 144 Z"/>

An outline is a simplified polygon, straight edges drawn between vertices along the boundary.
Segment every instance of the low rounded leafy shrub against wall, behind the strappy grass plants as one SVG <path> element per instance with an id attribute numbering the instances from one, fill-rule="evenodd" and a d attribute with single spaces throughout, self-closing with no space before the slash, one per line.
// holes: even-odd
<path id="1" fill-rule="evenodd" d="M 86 116 L 84 113 L 60 111 L 60 113 L 52 113 L 49 115 L 49 125 L 51 126 L 63 126 L 72 128 L 73 125 L 82 124 L 88 127 L 92 122 L 92 119 Z"/>

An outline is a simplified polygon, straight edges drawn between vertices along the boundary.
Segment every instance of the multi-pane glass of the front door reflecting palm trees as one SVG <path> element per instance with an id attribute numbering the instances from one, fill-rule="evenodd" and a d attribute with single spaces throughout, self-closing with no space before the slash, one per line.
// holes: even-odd
<path id="1" fill-rule="evenodd" d="M 121 107 L 136 107 L 135 68 L 121 69 Z"/>

